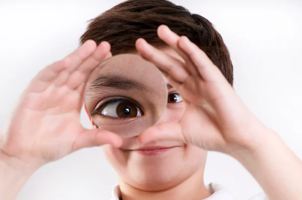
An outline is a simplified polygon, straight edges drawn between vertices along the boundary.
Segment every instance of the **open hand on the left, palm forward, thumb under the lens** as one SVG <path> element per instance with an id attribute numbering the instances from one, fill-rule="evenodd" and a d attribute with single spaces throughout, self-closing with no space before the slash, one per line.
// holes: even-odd
<path id="1" fill-rule="evenodd" d="M 37 74 L 0 140 L 0 161 L 17 170 L 36 170 L 85 147 L 120 146 L 122 140 L 116 134 L 87 130 L 80 124 L 87 79 L 110 56 L 109 43 L 97 46 L 89 40 Z"/>

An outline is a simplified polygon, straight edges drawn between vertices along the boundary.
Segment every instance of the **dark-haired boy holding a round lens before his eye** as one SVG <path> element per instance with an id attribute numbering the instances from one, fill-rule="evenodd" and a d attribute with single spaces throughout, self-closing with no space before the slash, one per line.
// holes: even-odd
<path id="1" fill-rule="evenodd" d="M 81 42 L 41 71 L 21 98 L 0 143 L 3 199 L 14 199 L 47 162 L 103 144 L 110 144 L 104 154 L 119 175 L 112 200 L 233 199 L 219 185 L 204 185 L 207 150 L 236 158 L 269 199 L 302 199 L 301 161 L 236 95 L 229 51 L 205 18 L 164 0 L 131 0 L 94 19 Z M 179 94 L 180 111 L 167 109 L 137 138 L 86 130 L 79 122 L 90 72 L 120 53 L 156 64 L 174 86 L 169 92 Z"/>

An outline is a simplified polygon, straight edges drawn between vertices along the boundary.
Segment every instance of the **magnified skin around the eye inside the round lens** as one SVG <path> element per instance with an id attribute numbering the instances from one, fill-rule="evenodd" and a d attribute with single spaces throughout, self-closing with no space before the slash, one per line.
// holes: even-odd
<path id="1" fill-rule="evenodd" d="M 96 86 L 91 87 L 90 82 L 95 81 L 100 75 L 117 77 L 117 80 L 127 77 L 128 80 L 143 88 L 117 89 L 100 85 L 97 88 L 95 88 Z M 121 96 L 135 101 L 143 108 L 145 115 L 141 118 L 122 121 L 99 115 L 92 116 L 95 108 L 100 107 L 96 105 L 99 103 L 103 105 L 108 98 L 120 98 Z M 88 116 L 92 116 L 92 121 L 98 127 L 117 133 L 121 137 L 137 136 L 147 127 L 154 125 L 160 119 L 166 105 L 166 82 L 160 70 L 153 63 L 147 62 L 135 54 L 120 54 L 102 63 L 93 71 L 85 92 L 85 107 Z"/>

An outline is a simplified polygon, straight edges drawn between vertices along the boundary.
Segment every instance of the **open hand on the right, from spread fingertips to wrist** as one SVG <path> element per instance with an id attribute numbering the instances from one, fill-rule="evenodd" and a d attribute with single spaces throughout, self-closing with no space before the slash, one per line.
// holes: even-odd
<path id="1" fill-rule="evenodd" d="M 217 66 L 185 36 L 160 26 L 159 37 L 183 59 L 136 41 L 140 55 L 163 70 L 184 99 L 186 109 L 178 122 L 158 124 L 139 136 L 141 143 L 176 139 L 205 150 L 232 154 L 252 148 L 265 129 L 248 110 Z"/>

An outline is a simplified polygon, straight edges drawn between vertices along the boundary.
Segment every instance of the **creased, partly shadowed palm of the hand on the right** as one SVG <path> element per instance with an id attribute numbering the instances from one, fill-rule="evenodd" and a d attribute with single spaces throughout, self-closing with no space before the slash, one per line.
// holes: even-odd
<path id="1" fill-rule="evenodd" d="M 196 85 L 199 86 L 196 87 Z M 242 134 L 237 128 L 242 127 L 244 123 L 242 115 L 237 112 L 240 105 L 238 102 L 232 102 L 230 98 L 230 95 L 237 97 L 235 91 L 230 89 L 231 86 L 225 85 L 230 89 L 230 93 L 226 95 L 219 93 L 218 91 L 222 88 L 218 87 L 220 86 L 217 82 L 205 82 L 193 77 L 189 78 L 188 83 L 180 86 L 180 88 L 185 88 L 181 89 L 180 93 L 186 96 L 187 104 L 179 121 L 182 134 L 187 142 L 206 150 L 217 150 L 223 144 L 235 143 L 238 134 Z M 221 110 L 222 107 L 219 106 L 221 104 L 227 105 L 228 108 L 223 107 Z"/>

